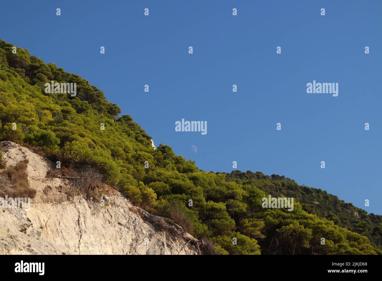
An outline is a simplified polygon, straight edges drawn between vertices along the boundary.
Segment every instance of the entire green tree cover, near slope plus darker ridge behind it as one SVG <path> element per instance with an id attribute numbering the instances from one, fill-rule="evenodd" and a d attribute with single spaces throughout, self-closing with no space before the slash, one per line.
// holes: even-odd
<path id="1" fill-rule="evenodd" d="M 151 136 L 129 115 L 118 117 L 120 108 L 88 81 L 12 47 L 0 40 L 0 140 L 40 151 L 61 169 L 94 167 L 135 204 L 210 241 L 216 253 L 381 253 L 381 216 L 285 177 L 201 171 L 170 146 L 152 148 Z M 76 83 L 76 96 L 45 93 L 52 80 Z M 262 208 L 269 194 L 299 203 L 293 211 Z"/>

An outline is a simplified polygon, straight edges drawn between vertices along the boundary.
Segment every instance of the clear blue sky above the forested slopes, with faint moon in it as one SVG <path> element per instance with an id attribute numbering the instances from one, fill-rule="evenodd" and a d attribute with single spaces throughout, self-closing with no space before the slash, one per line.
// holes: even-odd
<path id="1" fill-rule="evenodd" d="M 89 80 L 199 169 L 237 161 L 382 214 L 381 1 L 137 2 L 3 1 L 0 38 Z M 313 80 L 338 97 L 306 93 Z M 207 135 L 175 132 L 182 118 Z"/>

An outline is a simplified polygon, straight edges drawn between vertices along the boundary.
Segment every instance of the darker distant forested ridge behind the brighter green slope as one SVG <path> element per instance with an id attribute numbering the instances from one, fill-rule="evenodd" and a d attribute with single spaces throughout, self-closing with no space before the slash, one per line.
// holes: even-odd
<path id="1" fill-rule="evenodd" d="M 372 244 L 381 249 L 382 216 L 355 207 L 352 203 L 338 199 L 325 190 L 298 185 L 295 180 L 280 175 L 264 175 L 262 172 L 233 171 L 223 173 L 227 181 L 238 184 L 255 185 L 275 197 L 294 197 L 303 210 L 327 218 L 336 225 L 367 236 Z"/>

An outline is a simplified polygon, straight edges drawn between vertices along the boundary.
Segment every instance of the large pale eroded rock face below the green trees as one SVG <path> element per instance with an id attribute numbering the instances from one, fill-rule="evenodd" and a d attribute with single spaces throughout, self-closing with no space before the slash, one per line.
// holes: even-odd
<path id="1" fill-rule="evenodd" d="M 0 142 L 7 166 L 28 159 L 29 186 L 37 190 L 28 211 L 0 208 L 0 254 L 191 254 L 194 237 L 177 224 L 133 206 L 110 189 L 104 206 L 68 199 L 65 179 L 47 178 L 53 163 L 28 148 Z"/>

